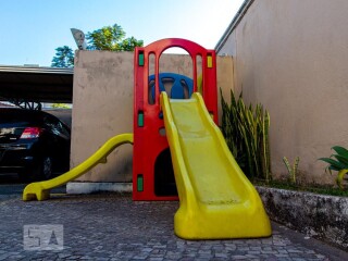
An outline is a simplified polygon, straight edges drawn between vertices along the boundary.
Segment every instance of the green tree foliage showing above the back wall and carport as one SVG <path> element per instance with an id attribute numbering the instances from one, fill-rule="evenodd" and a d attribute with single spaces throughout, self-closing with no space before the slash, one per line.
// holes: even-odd
<path id="1" fill-rule="evenodd" d="M 86 39 L 87 50 L 133 51 L 136 47 L 142 47 L 144 45 L 142 40 L 137 40 L 133 36 L 126 38 L 126 33 L 117 24 L 88 32 Z M 74 66 L 74 53 L 70 47 L 59 47 L 55 50 L 52 67 Z"/>

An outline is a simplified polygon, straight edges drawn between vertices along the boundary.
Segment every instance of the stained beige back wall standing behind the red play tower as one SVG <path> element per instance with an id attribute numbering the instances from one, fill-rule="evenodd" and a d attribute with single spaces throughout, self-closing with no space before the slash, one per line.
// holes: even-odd
<path id="1" fill-rule="evenodd" d="M 74 70 L 71 167 L 76 166 L 109 138 L 133 132 L 133 62 L 132 52 L 77 51 Z M 190 75 L 188 55 L 165 54 L 161 72 Z M 233 88 L 231 57 L 217 58 L 217 86 Z M 130 145 L 119 147 L 77 181 L 130 182 Z"/>

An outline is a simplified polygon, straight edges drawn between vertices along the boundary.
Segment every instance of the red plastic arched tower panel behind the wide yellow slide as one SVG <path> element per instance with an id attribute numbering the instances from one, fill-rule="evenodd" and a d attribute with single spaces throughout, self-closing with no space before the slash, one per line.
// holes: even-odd
<path id="1" fill-rule="evenodd" d="M 173 166 L 160 108 L 159 61 L 166 49 L 178 47 L 192 59 L 194 91 L 197 91 L 197 58 L 202 61 L 202 97 L 208 111 L 217 123 L 216 58 L 214 50 L 179 38 L 154 41 L 147 47 L 136 48 L 134 57 L 134 156 L 133 199 L 177 200 Z M 150 104 L 149 55 L 154 54 L 156 95 Z M 161 130 L 161 132 L 160 132 Z M 174 186 L 174 189 L 173 189 Z M 167 188 L 166 188 L 167 187 Z"/>

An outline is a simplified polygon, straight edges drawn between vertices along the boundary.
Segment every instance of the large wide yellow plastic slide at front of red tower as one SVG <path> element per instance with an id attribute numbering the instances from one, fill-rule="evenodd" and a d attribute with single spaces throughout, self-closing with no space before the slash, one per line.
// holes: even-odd
<path id="1" fill-rule="evenodd" d="M 270 236 L 262 201 L 231 154 L 198 92 L 189 100 L 161 94 L 179 209 L 174 231 L 186 239 Z"/>

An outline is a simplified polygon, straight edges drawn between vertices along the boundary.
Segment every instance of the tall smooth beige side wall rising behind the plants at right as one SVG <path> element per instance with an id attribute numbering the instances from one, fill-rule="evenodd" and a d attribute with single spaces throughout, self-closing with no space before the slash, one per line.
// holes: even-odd
<path id="1" fill-rule="evenodd" d="M 274 174 L 300 157 L 308 182 L 328 183 L 331 147 L 348 146 L 348 1 L 256 0 L 219 53 L 234 55 L 235 88 L 271 113 Z"/>

